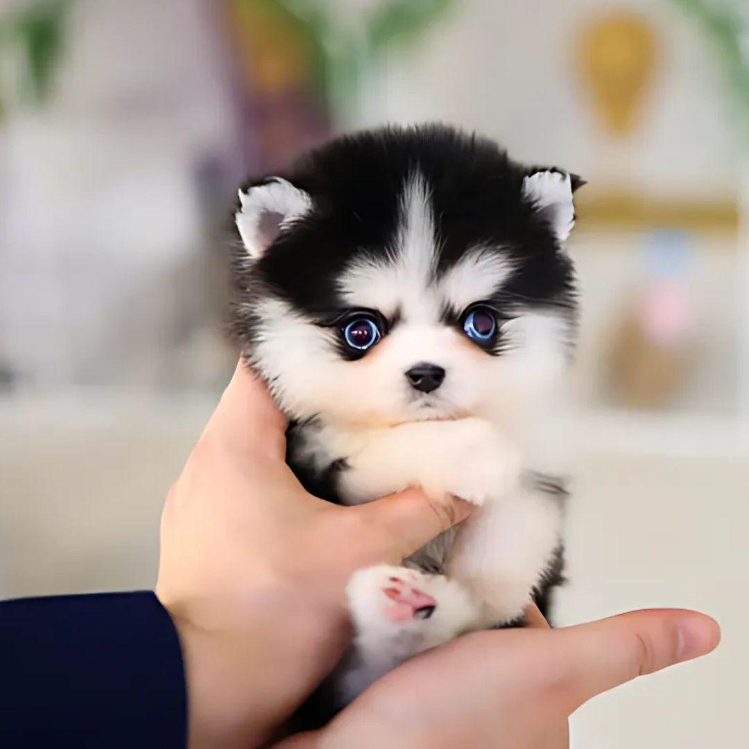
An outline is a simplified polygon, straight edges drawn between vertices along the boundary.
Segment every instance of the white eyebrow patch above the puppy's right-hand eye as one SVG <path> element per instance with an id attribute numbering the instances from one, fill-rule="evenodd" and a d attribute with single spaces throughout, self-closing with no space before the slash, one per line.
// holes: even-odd
<path id="1" fill-rule="evenodd" d="M 470 304 L 491 297 L 509 278 L 508 258 L 485 247 L 476 247 L 458 260 L 440 279 L 440 296 L 461 312 Z"/>

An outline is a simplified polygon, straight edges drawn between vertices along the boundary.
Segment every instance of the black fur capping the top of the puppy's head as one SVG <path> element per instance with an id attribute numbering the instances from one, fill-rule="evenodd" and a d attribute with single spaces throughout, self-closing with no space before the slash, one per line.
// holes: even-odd
<path id="1" fill-rule="evenodd" d="M 518 265 L 509 285 L 491 300 L 500 311 L 511 315 L 513 303 L 523 303 L 574 315 L 572 264 L 542 213 L 521 193 L 523 179 L 541 168 L 521 166 L 494 142 L 443 125 L 345 136 L 276 175 L 309 193 L 312 211 L 293 231 L 279 234 L 251 270 L 243 249 L 237 252 L 240 297 L 252 296 L 259 284 L 321 324 L 343 312 L 336 278 L 354 255 L 389 252 L 397 201 L 414 169 L 431 191 L 441 242 L 437 274 L 470 246 L 485 244 Z M 269 179 L 249 180 L 243 190 Z M 575 177 L 573 186 L 580 184 Z M 236 315 L 234 330 L 245 343 L 252 340 L 254 322 L 251 312 Z"/>

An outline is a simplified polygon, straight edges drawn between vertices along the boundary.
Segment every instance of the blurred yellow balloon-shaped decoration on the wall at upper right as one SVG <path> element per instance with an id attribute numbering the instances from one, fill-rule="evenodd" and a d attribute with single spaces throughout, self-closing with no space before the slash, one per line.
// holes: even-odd
<path id="1" fill-rule="evenodd" d="M 601 124 L 627 136 L 637 123 L 657 61 L 655 32 L 640 16 L 610 13 L 580 37 L 578 65 Z"/>

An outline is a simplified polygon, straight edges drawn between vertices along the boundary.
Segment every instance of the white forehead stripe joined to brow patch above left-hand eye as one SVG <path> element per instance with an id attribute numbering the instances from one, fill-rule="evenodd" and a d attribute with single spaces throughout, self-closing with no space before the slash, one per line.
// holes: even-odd
<path id="1" fill-rule="evenodd" d="M 345 270 L 339 279 L 345 302 L 386 316 L 400 309 L 410 321 L 436 320 L 439 303 L 432 288 L 436 243 L 428 187 L 419 172 L 412 172 L 401 194 L 389 252 L 382 260 L 358 259 Z"/>

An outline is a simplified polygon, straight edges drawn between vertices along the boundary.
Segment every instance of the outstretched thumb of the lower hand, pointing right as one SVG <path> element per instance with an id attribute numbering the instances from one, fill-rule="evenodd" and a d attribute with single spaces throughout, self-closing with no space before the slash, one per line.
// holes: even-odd
<path id="1" fill-rule="evenodd" d="M 721 640 L 715 619 L 685 609 L 649 609 L 556 632 L 569 714 L 596 694 L 637 676 L 699 658 Z M 560 673 L 557 670 L 557 673 Z"/>

